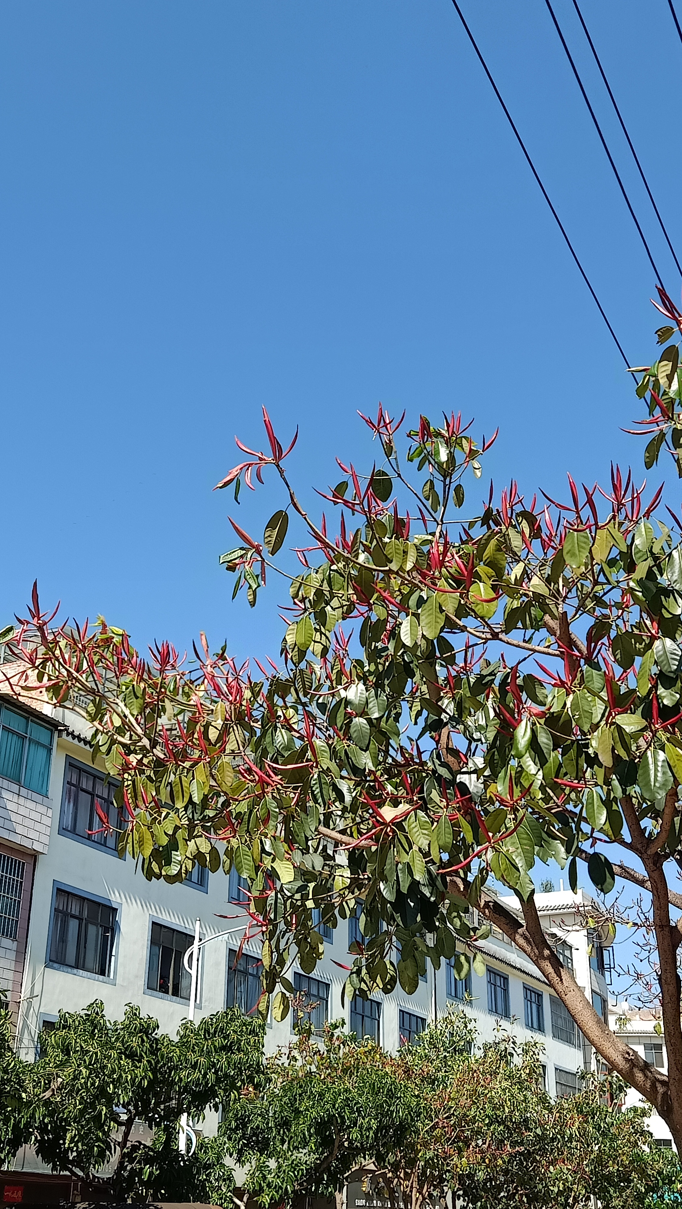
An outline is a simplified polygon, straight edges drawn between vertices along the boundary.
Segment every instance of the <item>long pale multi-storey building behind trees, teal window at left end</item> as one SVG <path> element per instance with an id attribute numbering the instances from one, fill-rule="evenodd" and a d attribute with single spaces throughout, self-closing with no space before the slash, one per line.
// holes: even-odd
<path id="1" fill-rule="evenodd" d="M 79 715 L 0 696 L 0 987 L 8 991 L 24 1055 L 36 1052 L 41 1029 L 59 1010 L 77 1011 L 96 999 L 110 1018 L 138 1003 L 174 1034 L 187 1011 L 183 956 L 197 918 L 202 938 L 226 929 L 236 933 L 202 950 L 197 1019 L 235 1002 L 252 1011 L 259 997 L 259 942 L 247 941 L 237 961 L 248 916 L 235 872 L 226 878 L 197 867 L 190 883 L 146 881 L 134 861 L 119 858 L 100 827 L 96 803 L 116 822 L 111 797 L 104 773 L 92 765 Z M 559 891 L 538 895 L 537 904 L 557 955 L 607 1019 L 603 951 L 585 925 L 590 899 L 583 891 Z M 352 919 L 334 932 L 325 929 L 314 974 L 293 972 L 296 989 L 310 999 L 316 1029 L 325 1019 L 343 1019 L 358 1035 L 395 1049 L 434 1014 L 466 1005 L 481 1039 L 502 1026 L 520 1041 L 541 1041 L 553 1095 L 576 1091 L 591 1054 L 561 1001 L 504 937 L 493 935 L 480 945 L 485 973 L 472 972 L 466 982 L 443 962 L 439 971 L 428 966 L 414 995 L 397 988 L 369 1002 L 342 1003 L 358 927 Z M 266 1048 L 287 1045 L 291 1035 L 291 1016 L 271 1020 Z"/>

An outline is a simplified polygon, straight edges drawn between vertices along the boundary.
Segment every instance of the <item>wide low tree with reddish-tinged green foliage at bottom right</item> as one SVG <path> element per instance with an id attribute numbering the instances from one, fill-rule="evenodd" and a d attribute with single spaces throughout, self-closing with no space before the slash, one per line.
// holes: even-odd
<path id="1" fill-rule="evenodd" d="M 394 1057 L 334 1025 L 322 1046 L 306 1029 L 270 1059 L 267 1083 L 232 1107 L 221 1138 L 262 1209 L 339 1196 L 349 1176 L 370 1178 L 392 1209 L 449 1192 L 462 1209 L 586 1209 L 595 1196 L 641 1209 L 676 1187 L 678 1164 L 659 1169 L 647 1111 L 619 1111 L 617 1076 L 554 1103 L 539 1057 L 502 1035 L 478 1048 L 463 1012 Z"/>

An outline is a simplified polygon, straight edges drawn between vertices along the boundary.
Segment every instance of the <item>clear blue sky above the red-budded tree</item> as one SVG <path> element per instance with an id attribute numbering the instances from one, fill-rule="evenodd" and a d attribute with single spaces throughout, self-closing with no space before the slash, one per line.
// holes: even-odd
<path id="1" fill-rule="evenodd" d="M 654 280 L 542 0 L 462 0 L 634 364 Z M 584 0 L 682 244 L 665 0 Z M 568 0 L 556 0 L 657 235 Z M 5 0 L 0 623 L 44 602 L 144 644 L 277 654 L 230 603 L 235 433 L 295 424 L 302 494 L 371 462 L 356 411 L 462 409 L 487 472 L 559 491 L 642 465 L 629 380 L 450 0 Z M 239 520 L 256 533 L 270 480 Z"/>

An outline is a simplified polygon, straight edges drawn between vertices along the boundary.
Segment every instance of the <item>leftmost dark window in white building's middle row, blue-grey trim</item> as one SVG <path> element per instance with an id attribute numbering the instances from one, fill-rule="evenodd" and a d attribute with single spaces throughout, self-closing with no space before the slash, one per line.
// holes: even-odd
<path id="1" fill-rule="evenodd" d="M 50 960 L 58 966 L 111 976 L 116 909 L 106 903 L 58 890 L 54 897 Z"/>

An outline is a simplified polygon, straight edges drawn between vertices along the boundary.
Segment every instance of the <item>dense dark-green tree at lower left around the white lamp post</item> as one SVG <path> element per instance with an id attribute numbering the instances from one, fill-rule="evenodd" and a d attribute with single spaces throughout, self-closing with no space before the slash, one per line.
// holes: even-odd
<path id="1" fill-rule="evenodd" d="M 259 1083 L 262 1031 L 236 1008 L 197 1025 L 184 1020 L 175 1041 L 133 1005 L 122 1020 L 108 1020 L 100 1002 L 60 1012 L 41 1036 L 40 1058 L 27 1064 L 37 1155 L 119 1199 L 229 1191 L 219 1144 L 200 1139 L 195 1156 L 179 1155 L 178 1126 L 183 1112 L 226 1110 Z M 132 1140 L 135 1122 L 148 1126 L 149 1141 Z"/>

